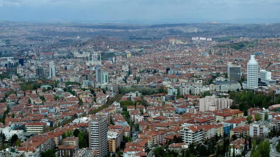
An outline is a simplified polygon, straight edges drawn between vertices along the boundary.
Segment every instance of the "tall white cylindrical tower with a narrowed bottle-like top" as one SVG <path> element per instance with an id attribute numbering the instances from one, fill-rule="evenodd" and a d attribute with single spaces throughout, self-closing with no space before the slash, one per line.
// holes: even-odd
<path id="1" fill-rule="evenodd" d="M 258 62 L 255 55 L 251 55 L 247 63 L 247 89 L 258 89 Z"/>

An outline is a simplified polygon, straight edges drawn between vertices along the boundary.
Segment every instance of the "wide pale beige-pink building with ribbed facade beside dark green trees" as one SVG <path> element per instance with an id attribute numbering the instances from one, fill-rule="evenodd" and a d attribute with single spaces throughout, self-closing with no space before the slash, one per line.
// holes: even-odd
<path id="1" fill-rule="evenodd" d="M 199 111 L 223 110 L 230 107 L 232 99 L 216 98 L 216 96 L 205 96 L 199 99 Z"/>

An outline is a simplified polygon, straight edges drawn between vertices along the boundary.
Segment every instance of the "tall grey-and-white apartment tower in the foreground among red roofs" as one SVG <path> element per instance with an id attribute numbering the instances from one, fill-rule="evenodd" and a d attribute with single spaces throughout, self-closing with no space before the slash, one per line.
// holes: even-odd
<path id="1" fill-rule="evenodd" d="M 107 145 L 107 119 L 97 116 L 88 122 L 89 148 L 97 150 L 98 157 L 105 157 L 108 154 Z"/>

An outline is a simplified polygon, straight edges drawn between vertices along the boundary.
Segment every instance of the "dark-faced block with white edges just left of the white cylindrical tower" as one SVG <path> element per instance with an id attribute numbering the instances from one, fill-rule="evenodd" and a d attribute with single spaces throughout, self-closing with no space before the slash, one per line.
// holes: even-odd
<path id="1" fill-rule="evenodd" d="M 227 75 L 230 81 L 236 81 L 241 79 L 241 66 L 234 65 L 231 62 L 227 64 Z"/>

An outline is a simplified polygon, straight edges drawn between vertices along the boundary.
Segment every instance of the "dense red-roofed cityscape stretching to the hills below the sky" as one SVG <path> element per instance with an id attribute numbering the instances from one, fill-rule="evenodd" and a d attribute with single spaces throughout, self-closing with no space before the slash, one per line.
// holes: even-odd
<path id="1" fill-rule="evenodd" d="M 0 21 L 0 156 L 279 157 L 279 32 Z"/>

